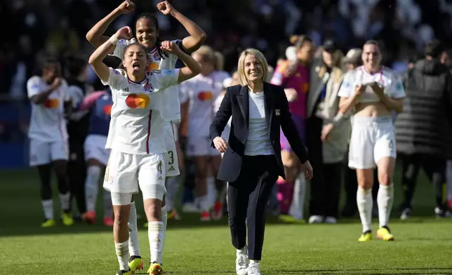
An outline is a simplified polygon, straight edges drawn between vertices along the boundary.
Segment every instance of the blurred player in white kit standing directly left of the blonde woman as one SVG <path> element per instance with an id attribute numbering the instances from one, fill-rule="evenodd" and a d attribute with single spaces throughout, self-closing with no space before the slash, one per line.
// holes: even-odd
<path id="1" fill-rule="evenodd" d="M 202 67 L 201 74 L 182 83 L 181 102 L 188 104 L 187 115 L 187 156 L 194 159 L 195 183 L 201 208 L 201 221 L 211 220 L 211 203 L 207 196 L 208 170 L 215 177 L 217 198 L 213 206 L 213 219 L 219 220 L 222 216 L 222 202 L 225 196 L 225 183 L 216 180 L 220 168 L 221 154 L 211 147 L 208 137 L 208 127 L 215 116 L 215 99 L 222 91 L 224 77 L 220 72 L 214 71 L 215 55 L 209 46 L 201 46 L 192 53 L 194 60 Z"/>

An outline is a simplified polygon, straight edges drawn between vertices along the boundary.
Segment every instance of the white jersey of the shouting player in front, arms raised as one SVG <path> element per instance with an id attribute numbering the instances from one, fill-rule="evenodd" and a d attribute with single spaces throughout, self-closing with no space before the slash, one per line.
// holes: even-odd
<path id="1" fill-rule="evenodd" d="M 164 93 L 178 83 L 178 69 L 152 70 L 135 83 L 121 69 L 109 68 L 102 83 L 112 88 L 112 112 L 106 148 L 127 154 L 166 152 L 161 107 Z M 163 91 L 165 90 L 165 91 Z"/>

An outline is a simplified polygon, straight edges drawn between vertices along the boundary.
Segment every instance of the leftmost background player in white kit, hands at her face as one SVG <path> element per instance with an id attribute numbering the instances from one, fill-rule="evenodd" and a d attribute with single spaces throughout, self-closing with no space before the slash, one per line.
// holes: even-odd
<path id="1" fill-rule="evenodd" d="M 55 170 L 60 193 L 63 224 L 74 224 L 69 207 L 69 186 L 66 175 L 69 147 L 65 121 L 65 105 L 70 106 L 67 83 L 61 78 L 58 60 L 48 59 L 42 76 L 27 81 L 27 93 L 32 102 L 29 137 L 29 164 L 38 169 L 41 180 L 41 202 L 45 221 L 41 227 L 55 226 L 51 189 L 51 169 Z M 69 102 L 69 103 L 67 103 Z"/>

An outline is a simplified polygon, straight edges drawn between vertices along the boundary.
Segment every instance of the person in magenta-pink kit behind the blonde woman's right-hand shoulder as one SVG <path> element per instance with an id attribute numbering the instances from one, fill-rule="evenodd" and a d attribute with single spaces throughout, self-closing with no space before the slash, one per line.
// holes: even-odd
<path id="1" fill-rule="evenodd" d="M 288 60 L 277 66 L 271 83 L 286 88 L 286 97 L 293 122 L 298 130 L 298 135 L 305 140 L 306 100 L 310 81 L 309 65 L 312 62 L 314 44 L 307 36 L 298 36 L 292 41 L 295 41 L 295 48 L 289 48 L 293 49 L 296 55 L 293 56 L 293 52 L 291 53 L 289 49 L 286 51 Z M 280 135 L 284 169 L 286 170 L 286 180 L 280 178 L 277 182 L 281 218 L 285 220 L 286 215 L 291 215 L 295 220 L 302 220 L 306 183 L 300 170 L 301 163 L 293 153 L 282 129 Z M 291 207 L 294 198 L 294 183 L 298 185 L 297 191 L 299 192 L 297 192 L 298 196 L 295 196 L 295 205 Z"/>

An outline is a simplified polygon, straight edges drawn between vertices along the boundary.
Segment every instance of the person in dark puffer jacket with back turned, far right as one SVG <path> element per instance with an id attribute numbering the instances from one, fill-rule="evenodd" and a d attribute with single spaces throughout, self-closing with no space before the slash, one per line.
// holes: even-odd
<path id="1" fill-rule="evenodd" d="M 444 182 L 448 147 L 447 123 L 452 118 L 452 74 L 444 65 L 446 49 L 439 41 L 425 46 L 425 59 L 404 76 L 404 112 L 397 116 L 397 151 L 402 159 L 404 201 L 401 219 L 411 216 L 413 194 L 420 168 L 435 188 L 437 217 L 446 215 Z"/>

